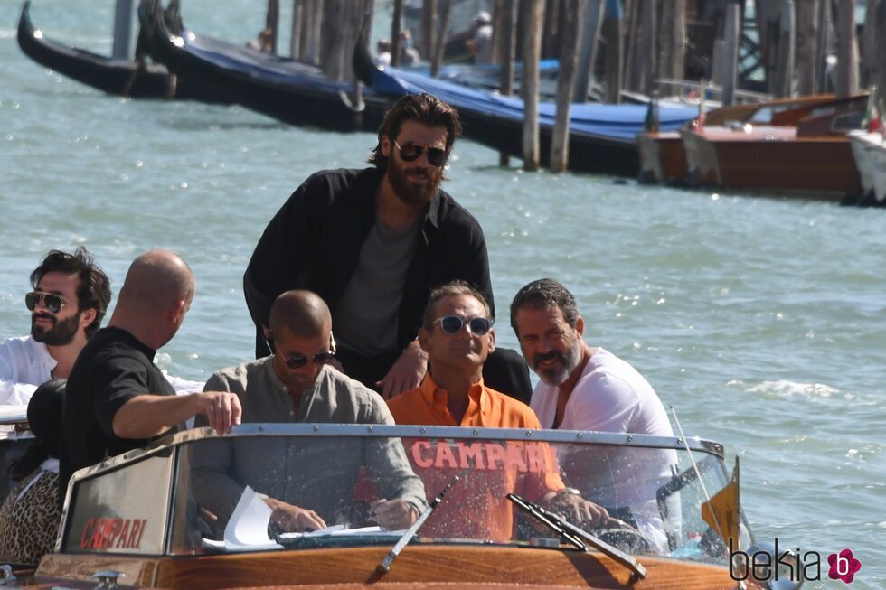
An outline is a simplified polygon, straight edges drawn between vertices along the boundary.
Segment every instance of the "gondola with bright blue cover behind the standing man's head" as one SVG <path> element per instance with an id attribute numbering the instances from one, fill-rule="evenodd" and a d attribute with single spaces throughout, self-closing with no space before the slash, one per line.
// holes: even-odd
<path id="1" fill-rule="evenodd" d="M 464 135 L 508 155 L 522 157 L 523 100 L 467 88 L 419 73 L 381 68 L 358 43 L 353 54 L 357 76 L 378 93 L 399 97 L 429 92 L 457 108 Z M 570 116 L 569 169 L 576 172 L 633 176 L 639 171 L 636 136 L 644 130 L 644 105 L 573 104 Z M 660 128 L 677 129 L 697 115 L 694 107 L 660 108 Z M 542 165 L 550 164 L 556 105 L 539 105 Z"/>

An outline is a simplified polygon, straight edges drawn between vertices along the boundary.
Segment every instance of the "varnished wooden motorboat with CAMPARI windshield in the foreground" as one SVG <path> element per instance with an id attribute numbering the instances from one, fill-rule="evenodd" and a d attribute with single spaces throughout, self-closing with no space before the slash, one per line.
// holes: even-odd
<path id="1" fill-rule="evenodd" d="M 571 431 L 192 430 L 75 473 L 56 552 L 24 587 L 736 588 L 717 531 L 741 548 L 750 535 L 722 457 L 698 438 Z M 419 498 L 408 530 L 368 516 L 391 490 L 388 501 Z M 730 516 L 711 524 L 704 506 L 732 490 Z M 256 492 L 330 526 L 284 531 Z M 561 494 L 608 506 L 619 523 L 592 529 L 539 510 Z"/>

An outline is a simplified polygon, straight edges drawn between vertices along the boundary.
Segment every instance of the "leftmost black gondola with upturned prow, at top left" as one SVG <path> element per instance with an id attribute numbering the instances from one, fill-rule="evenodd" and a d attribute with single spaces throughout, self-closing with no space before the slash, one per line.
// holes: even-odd
<path id="1" fill-rule="evenodd" d="M 132 98 L 182 98 L 218 102 L 211 89 L 171 76 L 162 64 L 119 60 L 46 38 L 31 22 L 28 0 L 18 23 L 18 44 L 33 61 L 115 96 Z"/>

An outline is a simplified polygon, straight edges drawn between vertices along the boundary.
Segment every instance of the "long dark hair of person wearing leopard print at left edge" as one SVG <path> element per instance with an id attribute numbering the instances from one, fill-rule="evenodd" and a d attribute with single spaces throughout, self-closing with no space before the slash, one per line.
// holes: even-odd
<path id="1" fill-rule="evenodd" d="M 61 443 L 61 405 L 66 379 L 51 379 L 33 392 L 28 403 L 28 424 L 34 441 L 24 454 L 9 465 L 6 473 L 14 481 L 23 480 L 50 457 L 58 457 Z"/>

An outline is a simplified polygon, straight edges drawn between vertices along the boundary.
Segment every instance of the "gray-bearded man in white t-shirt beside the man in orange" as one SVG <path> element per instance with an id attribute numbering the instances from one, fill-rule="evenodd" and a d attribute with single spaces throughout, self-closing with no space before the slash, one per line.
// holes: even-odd
<path id="1" fill-rule="evenodd" d="M 582 340 L 585 324 L 575 297 L 557 281 L 542 278 L 524 286 L 511 303 L 511 327 L 541 379 L 530 406 L 542 427 L 674 435 L 649 382 L 626 361 Z M 653 547 L 664 550 L 655 491 L 670 479 L 674 451 L 611 454 L 600 448 L 582 460 L 598 467 L 588 500 L 635 525 Z"/>

